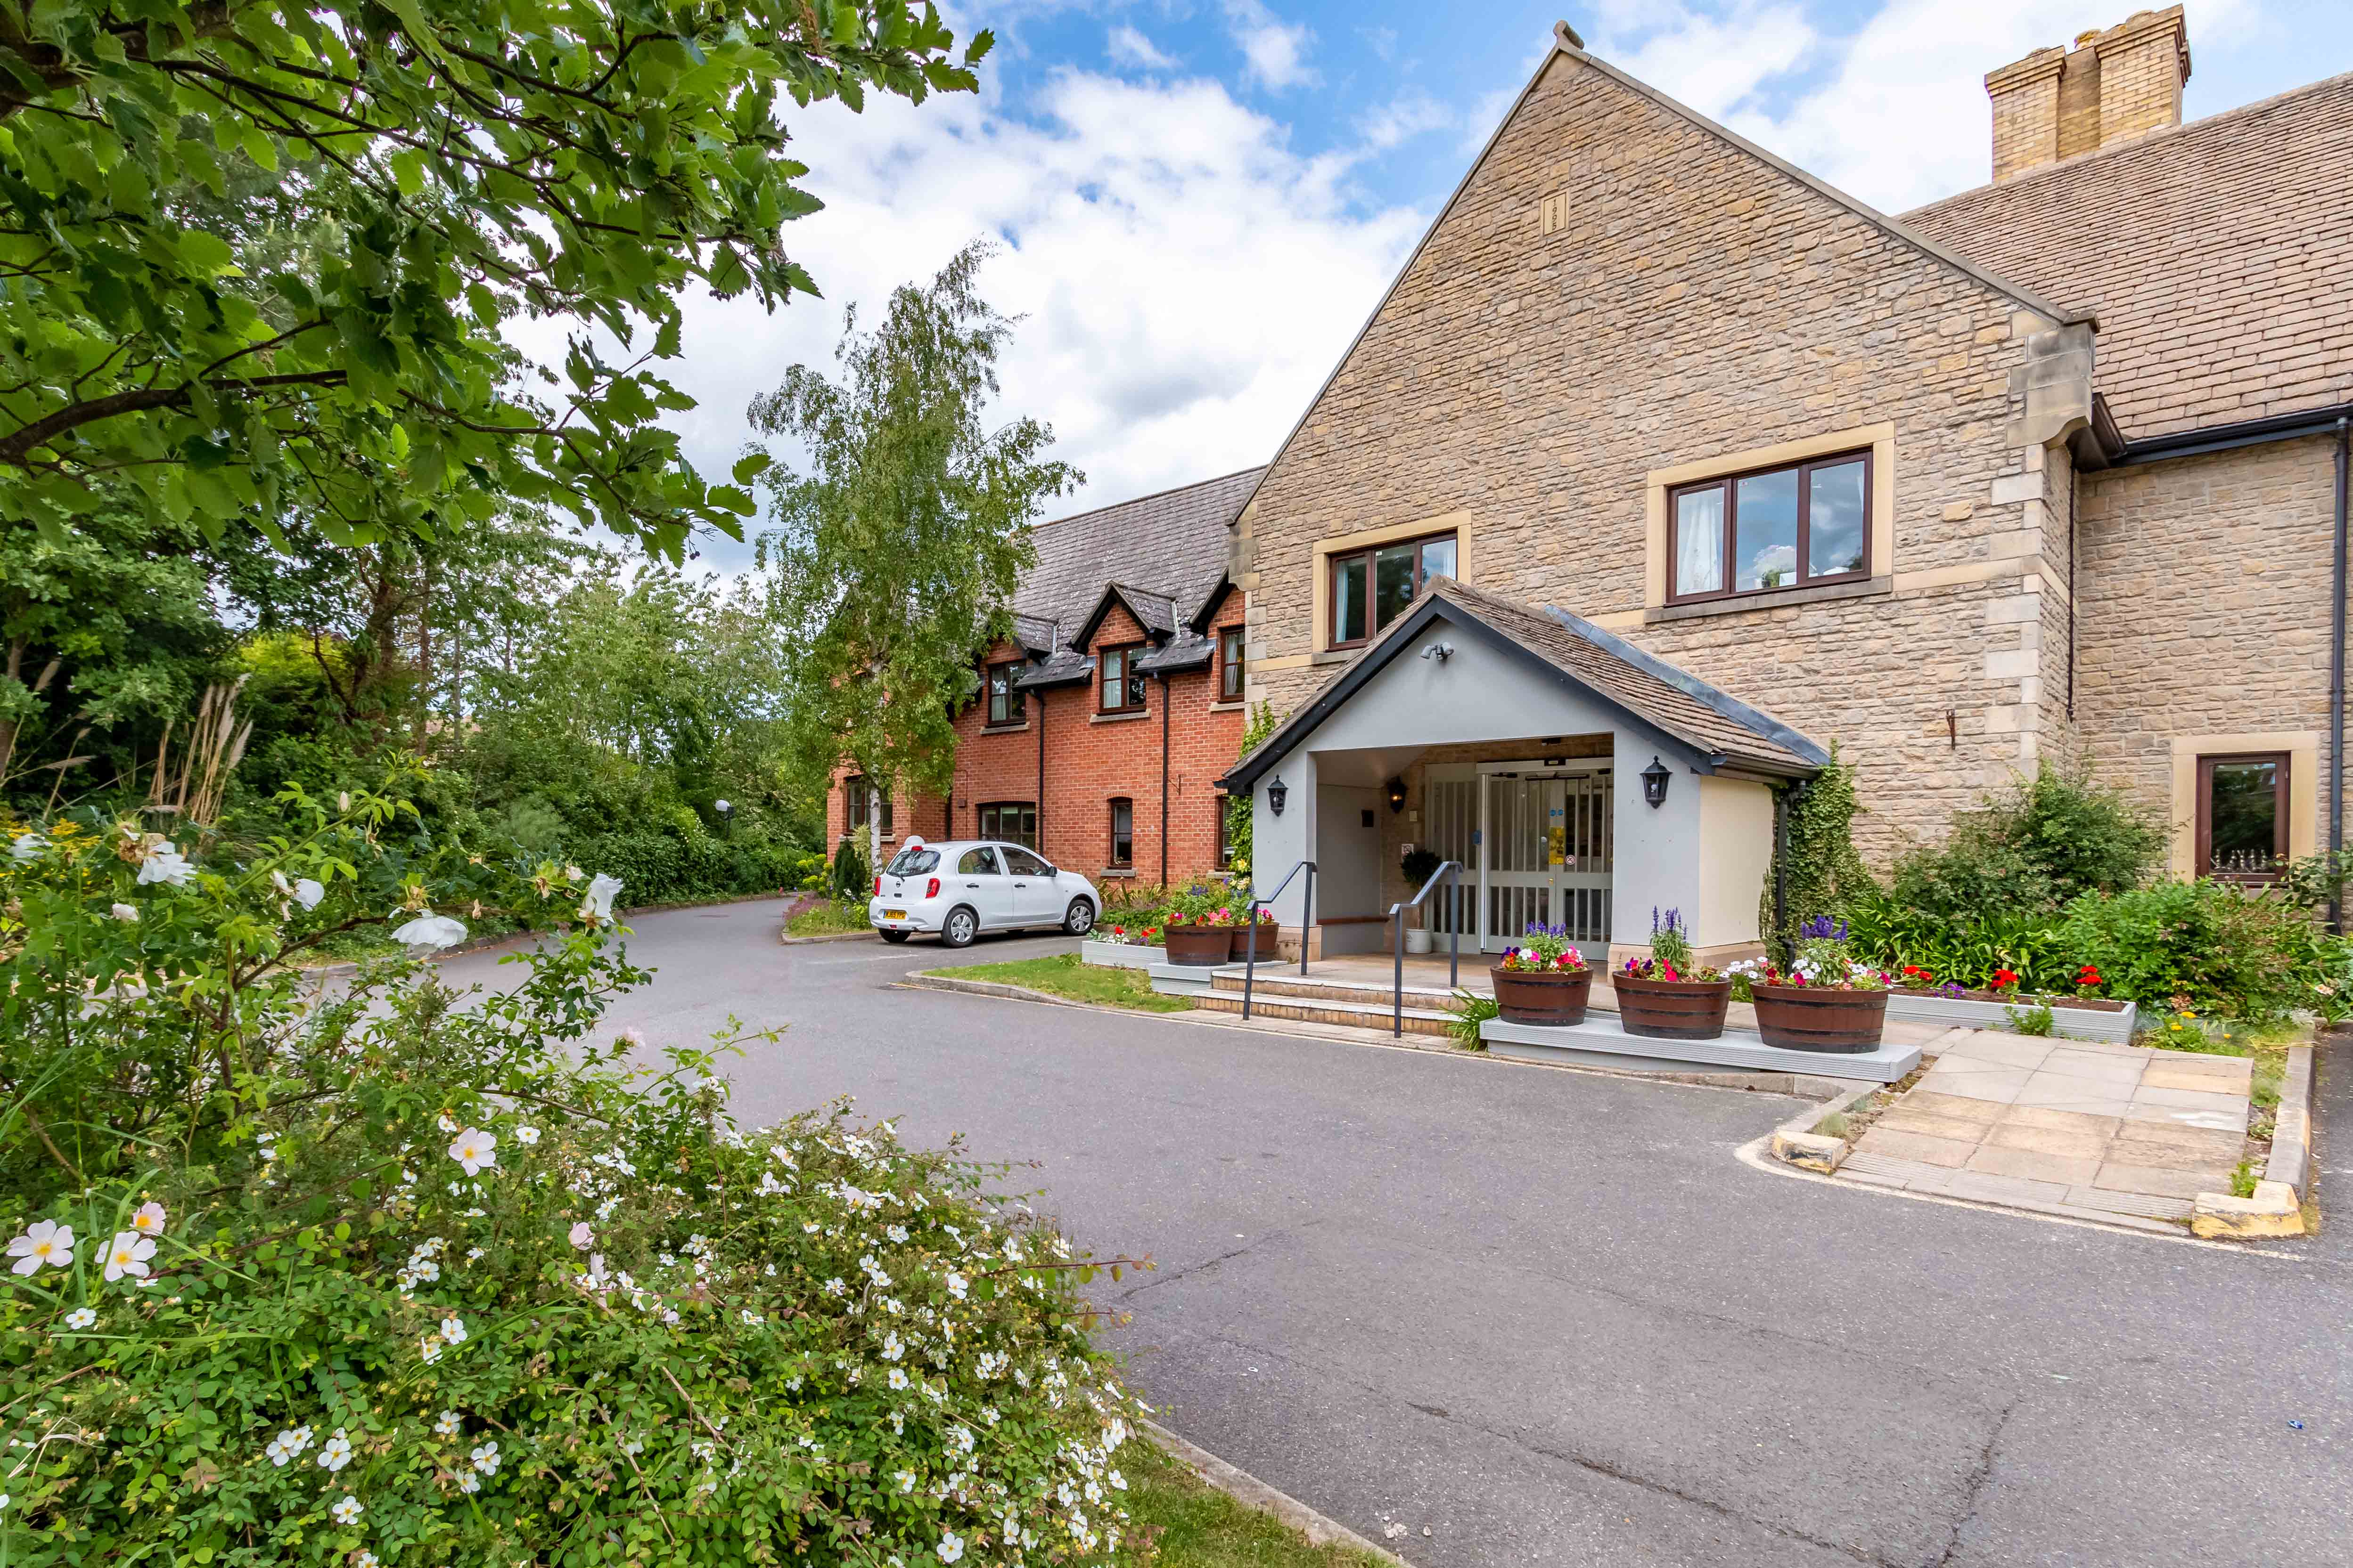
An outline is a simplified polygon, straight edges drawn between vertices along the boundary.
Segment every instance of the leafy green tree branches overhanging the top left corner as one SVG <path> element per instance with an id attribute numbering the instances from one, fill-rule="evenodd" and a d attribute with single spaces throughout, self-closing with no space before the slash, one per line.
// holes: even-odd
<path id="1" fill-rule="evenodd" d="M 965 92 L 991 38 L 953 42 L 906 0 L 0 7 L 0 517 L 54 536 L 118 480 L 205 534 L 259 510 L 365 541 L 518 501 L 671 555 L 739 534 L 751 496 L 678 458 L 654 421 L 692 402 L 647 360 L 689 284 L 814 294 L 781 242 L 819 202 L 779 92 Z M 306 212 L 264 277 L 191 200 L 245 165 Z M 515 317 L 572 331 L 546 397 Z M 607 362 L 593 329 L 649 350 Z"/>

